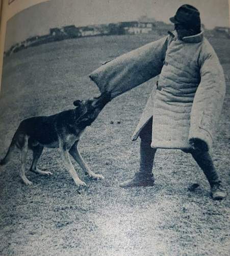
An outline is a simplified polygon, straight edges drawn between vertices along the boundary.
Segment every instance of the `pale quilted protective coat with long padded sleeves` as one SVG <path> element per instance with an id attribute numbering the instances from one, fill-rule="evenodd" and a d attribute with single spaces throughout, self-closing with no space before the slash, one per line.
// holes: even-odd
<path id="1" fill-rule="evenodd" d="M 202 32 L 180 40 L 173 31 L 106 63 L 90 78 L 101 92 L 116 97 L 157 75 L 157 91 L 148 98 L 132 139 L 153 117 L 152 147 L 189 150 L 193 139 L 201 139 L 209 150 L 225 81 L 218 57 Z"/>

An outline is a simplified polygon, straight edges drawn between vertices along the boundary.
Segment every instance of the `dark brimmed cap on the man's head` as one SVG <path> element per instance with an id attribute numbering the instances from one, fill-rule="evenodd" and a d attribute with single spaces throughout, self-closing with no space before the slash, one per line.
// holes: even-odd
<path id="1" fill-rule="evenodd" d="M 200 27 L 199 11 L 191 5 L 182 5 L 176 11 L 175 16 L 169 19 L 170 22 L 183 25 L 186 28 Z"/>

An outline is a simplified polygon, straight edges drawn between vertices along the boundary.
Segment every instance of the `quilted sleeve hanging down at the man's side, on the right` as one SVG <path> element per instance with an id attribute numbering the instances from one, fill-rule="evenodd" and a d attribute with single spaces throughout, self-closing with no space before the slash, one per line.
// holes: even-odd
<path id="1" fill-rule="evenodd" d="M 209 150 L 221 115 L 226 86 L 223 69 L 209 42 L 198 61 L 200 83 L 192 106 L 189 140 L 201 139 L 207 143 Z"/>

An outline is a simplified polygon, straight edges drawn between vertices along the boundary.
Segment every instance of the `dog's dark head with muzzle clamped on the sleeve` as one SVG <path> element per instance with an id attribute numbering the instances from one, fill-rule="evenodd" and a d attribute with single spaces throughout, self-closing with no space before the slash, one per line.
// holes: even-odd
<path id="1" fill-rule="evenodd" d="M 99 97 L 85 101 L 75 100 L 73 104 L 81 109 L 79 122 L 84 123 L 86 126 L 90 125 L 110 100 L 111 94 L 109 92 L 102 93 Z"/>

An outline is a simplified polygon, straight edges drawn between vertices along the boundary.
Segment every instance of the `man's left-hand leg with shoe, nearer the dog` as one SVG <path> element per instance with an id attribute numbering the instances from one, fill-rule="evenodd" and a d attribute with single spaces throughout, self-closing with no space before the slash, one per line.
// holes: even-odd
<path id="1" fill-rule="evenodd" d="M 140 167 L 133 179 L 120 183 L 120 187 L 153 186 L 154 175 L 152 167 L 156 149 L 151 147 L 152 118 L 143 127 L 140 133 Z"/>

